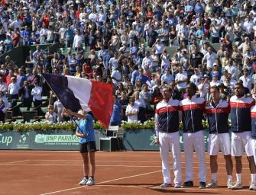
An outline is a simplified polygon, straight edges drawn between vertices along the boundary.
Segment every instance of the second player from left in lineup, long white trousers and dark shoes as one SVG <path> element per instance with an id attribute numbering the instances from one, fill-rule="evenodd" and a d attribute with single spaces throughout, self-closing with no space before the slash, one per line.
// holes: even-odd
<path id="1" fill-rule="evenodd" d="M 203 110 L 205 101 L 196 98 L 196 85 L 186 85 L 187 98 L 180 101 L 183 122 L 183 142 L 186 156 L 186 178 L 183 187 L 193 187 L 193 150 L 199 161 L 199 188 L 206 187 L 205 142 L 203 134 Z"/>

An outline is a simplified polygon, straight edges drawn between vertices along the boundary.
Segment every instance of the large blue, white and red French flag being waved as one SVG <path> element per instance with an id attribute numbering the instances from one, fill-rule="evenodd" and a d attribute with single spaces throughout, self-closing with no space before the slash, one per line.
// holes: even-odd
<path id="1" fill-rule="evenodd" d="M 73 112 L 90 109 L 105 129 L 109 128 L 114 104 L 112 85 L 68 75 L 42 75 L 63 107 Z"/>

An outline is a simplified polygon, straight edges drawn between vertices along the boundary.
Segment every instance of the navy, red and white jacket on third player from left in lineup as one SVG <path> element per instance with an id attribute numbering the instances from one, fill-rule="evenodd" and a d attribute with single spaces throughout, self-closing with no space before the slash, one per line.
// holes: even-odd
<path id="1" fill-rule="evenodd" d="M 209 123 L 209 133 L 228 133 L 228 114 L 230 107 L 227 101 L 219 101 L 215 107 L 211 102 L 206 105 L 205 113 Z"/>

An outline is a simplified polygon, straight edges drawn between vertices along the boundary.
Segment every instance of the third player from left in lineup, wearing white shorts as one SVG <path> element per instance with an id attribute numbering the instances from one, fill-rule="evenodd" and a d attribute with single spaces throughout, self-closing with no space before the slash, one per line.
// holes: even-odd
<path id="1" fill-rule="evenodd" d="M 217 187 L 217 155 L 222 151 L 225 158 L 225 168 L 228 175 L 227 186 L 232 188 L 232 170 L 233 163 L 231 158 L 231 142 L 228 134 L 228 114 L 230 111 L 227 101 L 220 99 L 219 88 L 212 86 L 210 88 L 212 101 L 206 105 L 206 114 L 209 123 L 209 143 L 208 154 L 210 155 L 211 183 L 206 187 Z"/>

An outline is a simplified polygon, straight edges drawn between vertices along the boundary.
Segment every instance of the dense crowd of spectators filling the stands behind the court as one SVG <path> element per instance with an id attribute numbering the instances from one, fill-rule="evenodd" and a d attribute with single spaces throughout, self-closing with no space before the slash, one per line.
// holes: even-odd
<path id="1" fill-rule="evenodd" d="M 42 95 L 50 96 L 50 122 L 69 118 L 42 72 L 111 83 L 121 120 L 128 121 L 152 116 L 164 85 L 181 100 L 193 82 L 197 95 L 209 101 L 209 86 L 218 85 L 228 100 L 235 83 L 242 82 L 255 97 L 254 1 L 5 0 L 0 9 L 0 53 L 44 43 L 68 50 L 52 53 L 37 46 L 25 66 L 6 56 L 0 69 L 0 91 L 8 94 L 11 107 L 18 98 L 25 107 L 32 101 L 37 107 Z M 219 50 L 212 43 L 219 43 Z M 170 47 L 177 50 L 170 53 Z"/>

